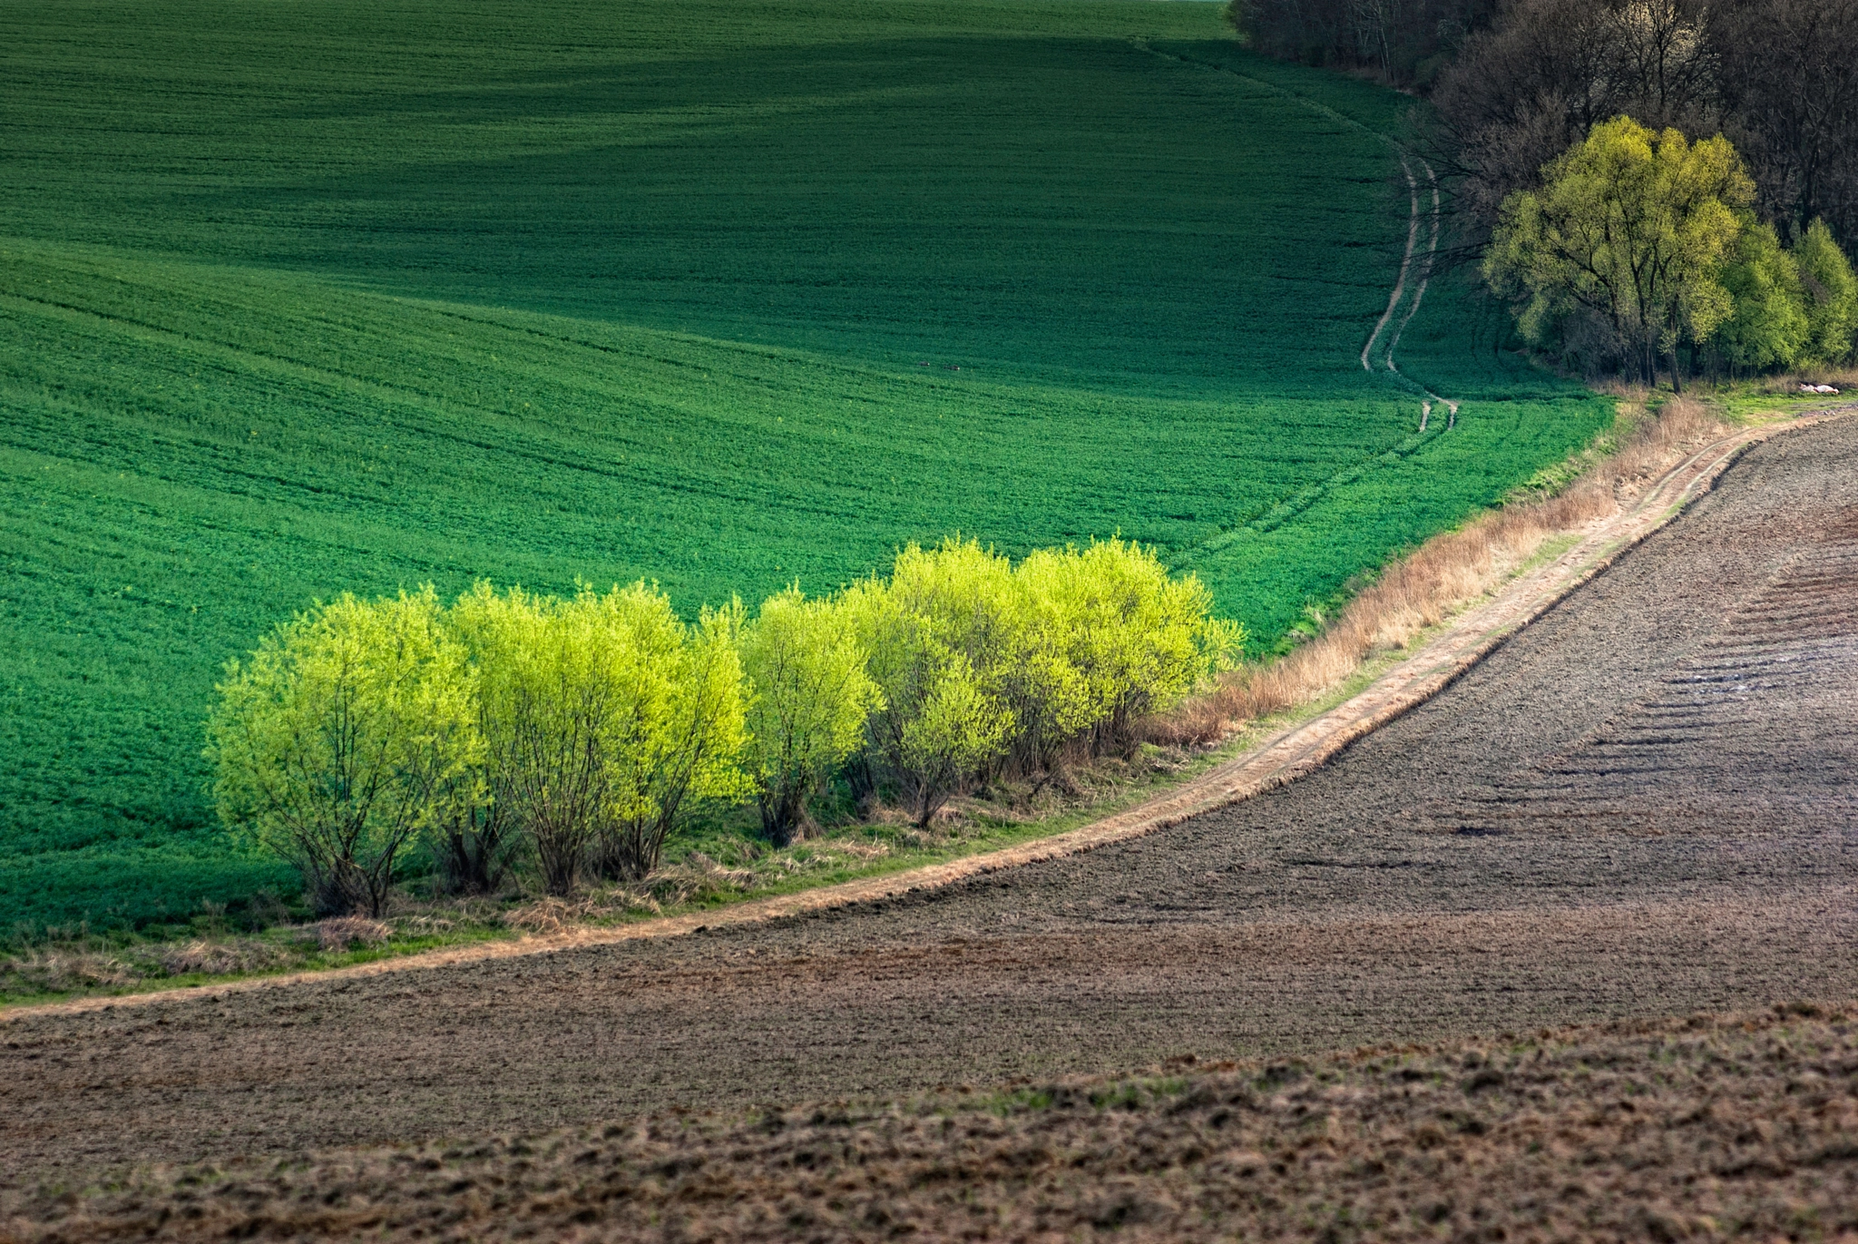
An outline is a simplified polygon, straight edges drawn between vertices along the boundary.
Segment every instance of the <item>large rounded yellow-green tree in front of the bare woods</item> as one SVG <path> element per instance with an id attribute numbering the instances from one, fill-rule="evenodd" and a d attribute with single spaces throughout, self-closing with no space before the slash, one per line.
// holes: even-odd
<path id="1" fill-rule="evenodd" d="M 1616 117 L 1542 177 L 1542 190 L 1503 201 L 1486 279 L 1524 305 L 1531 340 L 1587 311 L 1646 381 L 1668 359 L 1681 389 L 1678 346 L 1708 340 L 1734 314 L 1719 275 L 1754 199 L 1735 149 Z"/>

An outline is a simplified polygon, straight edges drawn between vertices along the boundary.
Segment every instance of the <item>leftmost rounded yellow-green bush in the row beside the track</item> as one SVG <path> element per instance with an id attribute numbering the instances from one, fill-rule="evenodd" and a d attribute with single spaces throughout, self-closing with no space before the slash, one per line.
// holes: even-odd
<path id="1" fill-rule="evenodd" d="M 316 606 L 217 690 L 219 814 L 299 865 L 323 913 L 381 915 L 420 831 L 478 798 L 470 671 L 431 588 Z"/>

